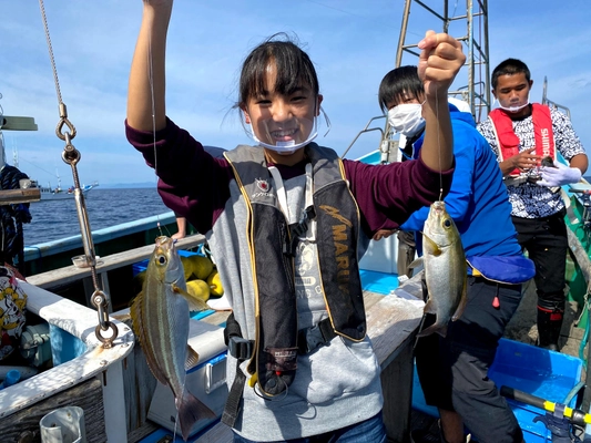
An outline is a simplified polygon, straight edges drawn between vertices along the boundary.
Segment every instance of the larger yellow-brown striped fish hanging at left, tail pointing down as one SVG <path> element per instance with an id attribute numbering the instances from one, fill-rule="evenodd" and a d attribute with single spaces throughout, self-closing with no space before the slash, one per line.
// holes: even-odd
<path id="1" fill-rule="evenodd" d="M 142 292 L 134 299 L 130 315 L 150 370 L 174 394 L 185 441 L 198 420 L 215 418 L 212 410 L 184 389 L 186 370 L 198 361 L 198 354 L 187 344 L 190 310 L 203 309 L 208 309 L 207 305 L 186 291 L 174 240 L 156 238 Z"/>

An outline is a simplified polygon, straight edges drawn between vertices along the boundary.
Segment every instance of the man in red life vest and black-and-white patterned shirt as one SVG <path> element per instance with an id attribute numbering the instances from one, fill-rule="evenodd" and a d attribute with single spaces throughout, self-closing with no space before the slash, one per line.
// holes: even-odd
<path id="1" fill-rule="evenodd" d="M 568 254 L 560 186 L 577 183 L 588 167 L 583 146 L 567 115 L 530 102 L 533 80 L 526 63 L 507 59 L 492 71 L 499 107 L 478 125 L 505 177 L 518 240 L 536 264 L 538 346 L 559 349 Z M 558 159 L 561 154 L 569 166 Z M 551 158 L 552 166 L 540 166 Z"/>

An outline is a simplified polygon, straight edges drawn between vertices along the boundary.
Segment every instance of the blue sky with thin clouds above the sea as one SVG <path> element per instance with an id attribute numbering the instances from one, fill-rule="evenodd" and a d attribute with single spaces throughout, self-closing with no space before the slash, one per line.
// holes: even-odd
<path id="1" fill-rule="evenodd" d="M 440 10 L 442 0 L 427 0 Z M 450 1 L 454 7 L 455 2 Z M 457 1 L 458 10 L 465 8 Z M 569 7 L 567 7 L 567 4 Z M 41 184 L 72 183 L 54 133 L 58 100 L 39 3 L 0 0 L 0 105 L 6 115 L 34 116 L 37 132 L 4 131 L 7 157 L 17 147 L 20 168 Z M 548 95 L 568 106 L 591 153 L 591 3 L 588 0 L 490 0 L 490 70 L 506 58 L 524 61 L 534 81 L 531 100 Z M 154 173 L 128 144 L 123 121 L 130 62 L 141 0 L 45 1 L 63 102 L 78 135 L 82 183 L 155 184 Z M 403 0 L 176 0 L 169 37 L 167 114 L 203 144 L 232 148 L 248 143 L 236 111 L 240 66 L 248 51 L 276 32 L 296 34 L 316 64 L 323 107 L 332 130 L 318 142 L 346 150 L 380 114 L 377 89 L 395 66 Z M 408 38 L 419 41 L 441 24 L 411 9 Z M 463 29 L 454 27 L 458 37 Z M 465 51 L 467 52 L 467 51 Z M 415 64 L 406 56 L 404 64 Z M 458 82 L 460 79 L 458 79 Z M 459 86 L 459 85 L 458 85 Z M 324 135 L 324 131 L 322 131 Z M 363 135 L 349 158 L 378 147 L 377 132 Z"/>

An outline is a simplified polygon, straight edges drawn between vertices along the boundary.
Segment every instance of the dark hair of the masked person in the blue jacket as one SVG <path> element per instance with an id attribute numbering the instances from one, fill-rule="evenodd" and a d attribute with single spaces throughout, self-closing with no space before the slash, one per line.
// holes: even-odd
<path id="1" fill-rule="evenodd" d="M 388 72 L 379 84 L 379 107 L 383 112 L 387 112 L 389 104 L 403 103 L 408 94 L 417 100 L 420 100 L 425 94 L 417 66 L 396 68 Z"/>

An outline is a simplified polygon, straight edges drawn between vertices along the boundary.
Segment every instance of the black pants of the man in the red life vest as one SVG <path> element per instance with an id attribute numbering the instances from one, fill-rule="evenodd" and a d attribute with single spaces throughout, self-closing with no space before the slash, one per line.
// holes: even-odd
<path id="1" fill-rule="evenodd" d="M 564 210 L 544 218 L 511 217 L 517 240 L 536 265 L 538 305 L 564 309 L 564 271 L 569 241 Z"/>

